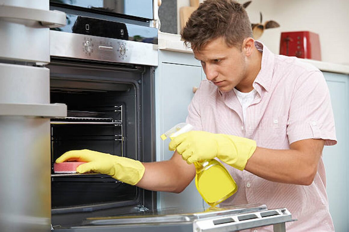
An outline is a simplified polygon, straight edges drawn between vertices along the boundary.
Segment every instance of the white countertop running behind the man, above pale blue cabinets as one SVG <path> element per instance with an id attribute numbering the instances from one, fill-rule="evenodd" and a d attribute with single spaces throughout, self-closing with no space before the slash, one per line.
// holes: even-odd
<path id="1" fill-rule="evenodd" d="M 161 31 L 159 31 L 158 36 L 158 48 L 166 51 L 193 53 L 191 49 L 184 46 L 183 41 L 180 40 L 180 35 Z M 304 59 L 304 61 L 313 64 L 321 71 L 349 74 L 349 65 L 327 63 L 310 59 Z"/>

